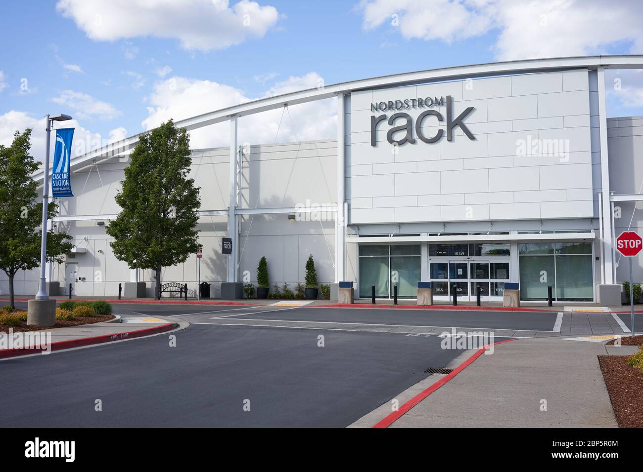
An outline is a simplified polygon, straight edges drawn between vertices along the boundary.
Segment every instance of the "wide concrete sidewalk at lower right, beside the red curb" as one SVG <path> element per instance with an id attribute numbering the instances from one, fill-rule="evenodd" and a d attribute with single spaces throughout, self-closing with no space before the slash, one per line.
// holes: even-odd
<path id="1" fill-rule="evenodd" d="M 617 427 L 597 355 L 629 354 L 628 348 L 550 338 L 496 345 L 390 427 Z M 399 405 L 442 377 L 432 375 L 403 392 Z M 390 413 L 387 402 L 351 426 L 372 427 Z"/>

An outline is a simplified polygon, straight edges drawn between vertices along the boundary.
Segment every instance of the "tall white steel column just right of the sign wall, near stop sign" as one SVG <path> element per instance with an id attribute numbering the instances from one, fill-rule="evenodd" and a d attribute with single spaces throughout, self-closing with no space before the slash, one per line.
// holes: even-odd
<path id="1" fill-rule="evenodd" d="M 613 213 L 611 213 L 610 205 L 610 169 L 608 162 L 607 150 L 607 105 L 605 101 L 605 68 L 598 67 L 598 88 L 599 88 L 599 132 L 601 135 L 601 188 L 602 188 L 602 214 L 603 214 L 603 232 L 604 234 L 613 234 Z M 606 218 L 606 216 L 610 218 Z M 613 260 L 613 239 L 604 238 L 601 241 L 604 244 L 604 270 L 605 270 L 605 283 L 615 283 L 614 274 L 614 260 Z"/>

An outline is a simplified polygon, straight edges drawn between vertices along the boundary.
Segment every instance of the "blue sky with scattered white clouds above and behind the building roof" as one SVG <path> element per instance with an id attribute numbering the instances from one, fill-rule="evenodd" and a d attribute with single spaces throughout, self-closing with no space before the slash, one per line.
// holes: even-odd
<path id="1" fill-rule="evenodd" d="M 636 1 L 174 0 L 172 8 L 159 1 L 152 10 L 146 4 L 3 2 L 0 144 L 16 129 L 39 127 L 48 112 L 73 114 L 77 130 L 109 139 L 170 116 L 314 87 L 320 79 L 335 83 L 516 58 L 643 53 L 637 19 L 643 8 Z M 249 23 L 239 26 L 243 12 Z M 608 114 L 643 114 L 640 74 L 610 74 Z M 611 91 L 617 77 L 622 90 Z M 303 139 L 331 132 L 332 103 L 301 107 L 293 109 L 300 129 L 284 127 L 280 141 L 295 132 Z M 266 114 L 248 121 L 246 139 L 271 141 L 276 119 Z M 214 132 L 195 142 L 224 144 L 224 135 Z"/>

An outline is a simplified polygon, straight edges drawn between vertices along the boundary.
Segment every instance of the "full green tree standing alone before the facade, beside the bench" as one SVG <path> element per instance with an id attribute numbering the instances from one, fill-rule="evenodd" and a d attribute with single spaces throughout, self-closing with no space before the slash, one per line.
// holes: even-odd
<path id="1" fill-rule="evenodd" d="M 161 298 L 161 268 L 183 263 L 199 248 L 199 188 L 190 173 L 190 137 L 170 119 L 140 135 L 125 168 L 116 203 L 122 211 L 107 226 L 114 256 L 131 268 L 156 272 L 154 298 Z"/>

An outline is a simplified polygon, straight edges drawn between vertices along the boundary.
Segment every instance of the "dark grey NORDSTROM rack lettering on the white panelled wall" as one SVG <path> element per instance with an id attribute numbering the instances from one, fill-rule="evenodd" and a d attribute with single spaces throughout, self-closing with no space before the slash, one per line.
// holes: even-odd
<path id="1" fill-rule="evenodd" d="M 442 135 L 444 135 L 444 129 L 440 128 L 433 136 L 426 136 L 422 131 L 422 124 L 424 123 L 424 121 L 426 121 L 426 119 L 429 119 L 430 117 L 436 119 L 438 123 L 442 123 L 444 121 L 444 116 L 442 116 L 442 113 L 440 113 L 438 110 L 431 109 L 431 107 L 444 106 L 445 102 L 447 141 L 451 141 L 453 137 L 453 128 L 455 127 L 460 127 L 460 129 L 469 139 L 475 139 L 474 135 L 471 134 L 471 131 L 469 131 L 469 128 L 467 128 L 463 121 L 466 116 L 471 113 L 471 111 L 473 111 L 473 107 L 467 107 L 467 109 L 460 113 L 456 118 L 453 118 L 453 105 L 451 104 L 451 95 L 447 95 L 446 100 L 444 97 L 435 97 L 417 99 L 410 98 L 406 100 L 379 101 L 377 103 L 371 103 L 371 112 L 377 113 L 394 111 L 394 113 L 388 117 L 386 116 L 386 114 L 381 114 L 379 116 L 372 115 L 370 117 L 370 145 L 377 145 L 377 125 L 379 125 L 382 121 L 386 121 L 386 123 L 388 123 L 388 125 L 390 126 L 388 132 L 386 132 L 386 141 L 388 141 L 390 144 L 415 144 L 416 140 L 415 137 L 413 137 L 413 118 L 410 114 L 399 110 L 423 108 L 428 108 L 429 110 L 424 110 L 415 119 L 415 136 L 417 136 L 420 141 L 428 144 L 439 141 Z M 399 139 L 394 139 L 394 135 L 399 137 Z"/>

